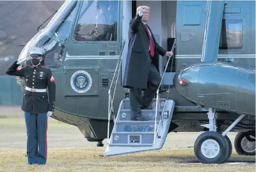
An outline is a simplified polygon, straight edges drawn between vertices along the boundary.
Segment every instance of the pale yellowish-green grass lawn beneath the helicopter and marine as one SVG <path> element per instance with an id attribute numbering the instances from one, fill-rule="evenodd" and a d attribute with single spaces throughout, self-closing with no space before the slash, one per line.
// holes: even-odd
<path id="1" fill-rule="evenodd" d="M 159 151 L 102 157 L 104 148 L 95 148 L 96 143 L 86 141 L 77 127 L 52 118 L 48 121 L 47 164 L 28 165 L 23 113 L 19 107 L 13 109 L 15 114 L 10 114 L 10 110 L 3 113 L 2 110 L 0 107 L 0 171 L 255 171 L 255 157 L 239 156 L 234 148 L 226 164 L 193 163 L 198 160 L 193 148 L 186 146 L 193 146 L 198 133 L 169 134 L 163 149 Z M 232 142 L 234 136 L 236 134 L 230 134 Z M 106 140 L 104 144 L 106 146 Z"/>

